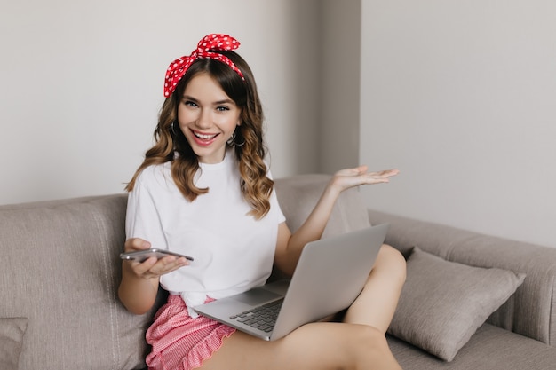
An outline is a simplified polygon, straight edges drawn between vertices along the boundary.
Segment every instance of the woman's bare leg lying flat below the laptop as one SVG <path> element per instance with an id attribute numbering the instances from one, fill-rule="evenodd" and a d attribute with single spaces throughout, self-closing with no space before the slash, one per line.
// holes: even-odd
<path id="1" fill-rule="evenodd" d="M 226 338 L 206 370 L 399 370 L 385 335 L 366 325 L 318 322 L 266 342 L 235 332 Z"/>

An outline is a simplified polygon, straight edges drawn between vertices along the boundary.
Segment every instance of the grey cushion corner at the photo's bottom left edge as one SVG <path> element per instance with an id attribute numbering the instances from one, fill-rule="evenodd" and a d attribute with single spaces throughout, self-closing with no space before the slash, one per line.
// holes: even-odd
<path id="1" fill-rule="evenodd" d="M 27 329 L 27 318 L 0 319 L 0 368 L 17 370 L 20 363 L 21 342 Z"/>

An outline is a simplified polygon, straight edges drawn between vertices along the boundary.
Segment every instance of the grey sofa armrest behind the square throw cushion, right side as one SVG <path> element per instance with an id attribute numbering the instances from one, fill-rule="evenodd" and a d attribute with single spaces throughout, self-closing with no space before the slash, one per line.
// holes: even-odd
<path id="1" fill-rule="evenodd" d="M 385 242 L 408 256 L 419 248 L 478 267 L 524 272 L 527 278 L 488 323 L 538 341 L 556 344 L 556 248 L 394 216 L 369 209 L 371 224 L 389 223 Z"/>

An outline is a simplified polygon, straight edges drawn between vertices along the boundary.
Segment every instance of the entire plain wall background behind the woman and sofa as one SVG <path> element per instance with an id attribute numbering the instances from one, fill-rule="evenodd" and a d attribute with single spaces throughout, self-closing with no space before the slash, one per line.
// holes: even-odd
<path id="1" fill-rule="evenodd" d="M 556 4 L 0 0 L 0 204 L 121 193 L 163 76 L 234 35 L 274 177 L 399 168 L 369 207 L 556 247 Z"/>

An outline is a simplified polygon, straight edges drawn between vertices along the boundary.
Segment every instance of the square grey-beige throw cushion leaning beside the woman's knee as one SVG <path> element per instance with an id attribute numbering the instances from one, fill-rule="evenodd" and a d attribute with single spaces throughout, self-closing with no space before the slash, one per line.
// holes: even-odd
<path id="1" fill-rule="evenodd" d="M 414 248 L 391 335 L 451 361 L 525 274 L 443 260 Z"/>

